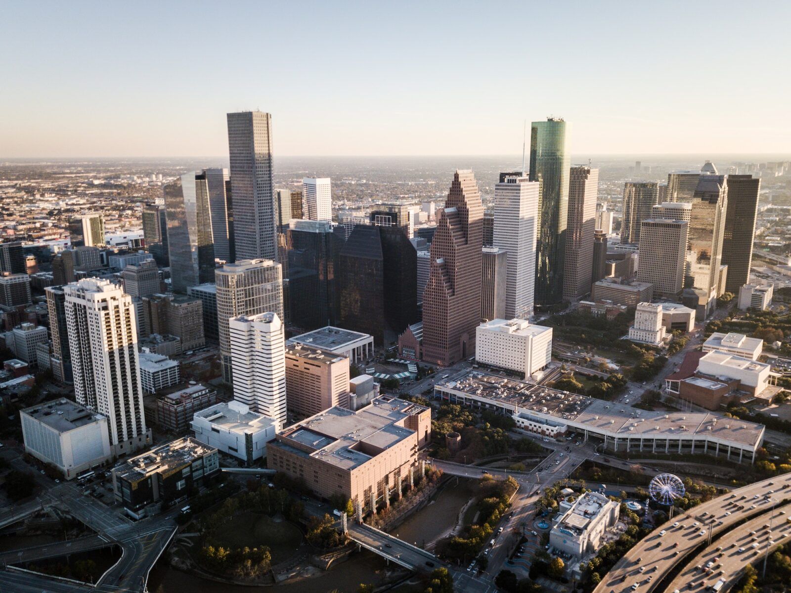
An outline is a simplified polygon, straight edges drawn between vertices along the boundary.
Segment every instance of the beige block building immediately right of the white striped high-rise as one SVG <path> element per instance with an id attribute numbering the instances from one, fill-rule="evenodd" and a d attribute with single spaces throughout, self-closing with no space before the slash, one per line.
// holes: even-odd
<path id="1" fill-rule="evenodd" d="M 312 416 L 336 405 L 349 407 L 349 357 L 304 344 L 286 347 L 288 409 Z"/>

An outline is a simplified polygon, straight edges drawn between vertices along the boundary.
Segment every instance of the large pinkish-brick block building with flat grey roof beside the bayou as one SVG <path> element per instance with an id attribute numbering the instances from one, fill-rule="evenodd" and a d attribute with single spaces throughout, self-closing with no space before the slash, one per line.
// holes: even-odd
<path id="1" fill-rule="evenodd" d="M 293 424 L 269 444 L 268 465 L 320 498 L 372 511 L 422 478 L 418 449 L 430 439 L 429 408 L 380 396 L 356 412 L 335 407 Z"/>

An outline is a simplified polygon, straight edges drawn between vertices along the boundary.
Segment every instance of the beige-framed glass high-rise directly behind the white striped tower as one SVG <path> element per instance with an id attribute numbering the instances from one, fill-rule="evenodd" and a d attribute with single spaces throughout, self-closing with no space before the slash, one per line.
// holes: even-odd
<path id="1" fill-rule="evenodd" d="M 238 260 L 214 272 L 217 289 L 217 329 L 222 378 L 233 379 L 228 320 L 274 312 L 283 314 L 283 278 L 280 264 L 272 260 Z"/>

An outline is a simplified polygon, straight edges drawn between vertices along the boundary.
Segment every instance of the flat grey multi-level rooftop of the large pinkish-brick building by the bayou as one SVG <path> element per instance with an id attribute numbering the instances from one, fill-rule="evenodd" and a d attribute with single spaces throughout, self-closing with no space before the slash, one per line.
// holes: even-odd
<path id="1" fill-rule="evenodd" d="M 335 406 L 286 428 L 273 444 L 348 471 L 414 435 L 398 423 L 426 409 L 388 396 L 377 397 L 357 412 Z"/>

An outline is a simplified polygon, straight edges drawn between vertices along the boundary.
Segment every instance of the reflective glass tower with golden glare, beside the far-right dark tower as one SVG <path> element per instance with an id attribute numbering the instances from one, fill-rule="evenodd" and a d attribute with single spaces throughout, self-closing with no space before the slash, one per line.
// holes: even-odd
<path id="1" fill-rule="evenodd" d="M 722 241 L 728 208 L 728 181 L 724 175 L 701 175 L 692 200 L 687 247 L 684 304 L 698 318 L 713 310 L 719 287 Z"/>

